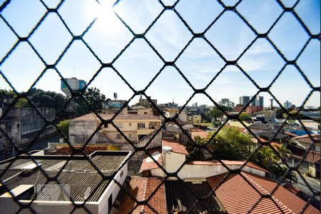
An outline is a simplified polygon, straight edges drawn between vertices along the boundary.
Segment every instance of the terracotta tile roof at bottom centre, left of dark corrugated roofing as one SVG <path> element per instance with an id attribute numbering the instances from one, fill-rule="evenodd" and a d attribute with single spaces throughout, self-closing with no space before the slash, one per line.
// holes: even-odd
<path id="1" fill-rule="evenodd" d="M 146 200 L 151 196 L 151 193 L 158 188 L 162 182 L 161 178 L 131 178 L 128 186 L 128 191 L 136 198 L 138 201 Z M 148 204 L 153 207 L 157 213 L 166 213 L 166 200 L 165 200 L 165 185 L 162 184 L 160 188 L 156 191 L 153 197 L 148 200 Z M 118 213 L 129 213 L 137 205 L 129 195 L 126 194 L 124 200 L 121 202 L 121 208 Z M 138 207 L 133 210 L 133 214 L 141 213 L 155 213 L 148 205 L 138 205 Z"/>

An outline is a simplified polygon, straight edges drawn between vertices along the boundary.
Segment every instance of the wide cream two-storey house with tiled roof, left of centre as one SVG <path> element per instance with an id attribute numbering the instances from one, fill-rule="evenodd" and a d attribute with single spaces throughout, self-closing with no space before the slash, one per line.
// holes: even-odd
<path id="1" fill-rule="evenodd" d="M 113 118 L 113 114 L 101 113 L 99 116 L 104 120 Z M 146 136 L 161 127 L 161 118 L 151 114 L 118 114 L 113 123 L 133 143 L 138 143 Z M 69 141 L 71 143 L 85 143 L 101 126 L 100 119 L 94 113 L 88 113 L 69 121 Z M 125 138 L 116 128 L 109 124 L 103 125 L 99 131 L 90 139 L 90 143 L 116 143 L 116 146 L 123 147 L 128 144 Z"/>

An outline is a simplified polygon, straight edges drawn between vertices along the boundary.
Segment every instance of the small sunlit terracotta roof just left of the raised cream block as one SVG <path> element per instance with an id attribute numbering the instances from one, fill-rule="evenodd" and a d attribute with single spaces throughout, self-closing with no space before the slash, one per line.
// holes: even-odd
<path id="1" fill-rule="evenodd" d="M 163 163 L 163 158 L 162 158 L 162 149 L 161 148 L 151 148 L 147 150 L 148 153 L 151 154 L 151 156 L 153 156 L 153 158 L 160 164 L 162 165 Z M 147 154 L 145 154 L 144 159 L 143 159 L 143 163 L 141 163 L 141 169 L 139 170 L 139 173 L 142 173 L 143 171 L 146 170 L 151 170 L 154 168 L 158 168 L 158 165 L 153 161 L 153 159 L 148 156 Z"/>

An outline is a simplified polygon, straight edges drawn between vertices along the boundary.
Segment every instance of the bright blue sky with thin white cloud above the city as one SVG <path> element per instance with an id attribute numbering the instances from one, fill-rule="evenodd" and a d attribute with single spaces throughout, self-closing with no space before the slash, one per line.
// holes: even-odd
<path id="1" fill-rule="evenodd" d="M 52 8 L 58 3 L 54 0 L 44 2 Z M 173 4 L 173 1 L 164 0 L 163 2 Z M 231 0 L 224 2 L 227 5 L 235 4 L 235 1 Z M 292 6 L 294 2 L 283 1 L 286 6 Z M 74 35 L 81 34 L 98 16 L 96 23 L 83 39 L 105 63 L 111 62 L 133 39 L 131 32 L 113 14 L 110 5 L 111 1 L 103 1 L 102 6 L 99 6 L 93 0 L 66 0 L 58 10 Z M 161 4 L 153 0 L 120 1 L 113 8 L 136 34 L 143 33 L 162 9 Z M 223 11 L 223 7 L 214 0 L 181 0 L 175 9 L 196 33 L 207 29 L 208 25 Z M 237 10 L 260 33 L 270 29 L 277 16 L 282 13 L 280 6 L 273 0 L 245 0 L 238 5 Z M 320 1 L 300 1 L 295 11 L 312 34 L 320 34 Z M 38 0 L 14 0 L 4 11 L 1 11 L 1 15 L 9 21 L 19 36 L 27 36 L 45 12 L 45 7 Z M 281 17 L 268 36 L 289 60 L 297 56 L 308 39 L 305 31 L 290 13 L 285 13 Z M 235 13 L 227 11 L 206 31 L 205 37 L 225 58 L 235 60 L 253 41 L 255 34 Z M 17 40 L 2 19 L 0 19 L 0 38 L 0 59 L 2 59 Z M 147 32 L 146 38 L 166 61 L 173 61 L 192 38 L 192 34 L 173 11 L 165 11 Z M 71 35 L 54 13 L 46 17 L 29 39 L 46 63 L 54 63 L 70 40 Z M 312 85 L 320 86 L 320 41 L 310 41 L 297 63 Z M 203 39 L 194 39 L 175 63 L 195 88 L 207 86 L 224 64 L 223 59 Z M 285 65 L 285 61 L 276 54 L 266 39 L 258 39 L 240 58 L 238 64 L 259 86 L 265 87 L 275 78 L 280 68 Z M 163 62 L 146 41 L 136 39 L 113 65 L 133 88 L 141 90 L 162 68 Z M 99 67 L 100 63 L 81 41 L 74 41 L 56 66 L 64 77 L 76 76 L 87 82 Z M 31 46 L 24 42 L 20 43 L 9 58 L 1 64 L 0 71 L 18 91 L 26 91 L 44 68 L 44 64 Z M 99 88 L 110 98 L 113 92 L 117 92 L 118 98 L 121 99 L 128 99 L 133 94 L 111 68 L 104 68 L 90 86 Z M 0 88 L 9 88 L 1 77 Z M 47 70 L 36 83 L 36 88 L 61 93 L 60 78 L 56 71 Z M 230 98 L 235 103 L 238 102 L 239 96 L 252 96 L 257 91 L 253 83 L 236 66 L 225 67 L 207 90 L 217 102 L 220 98 Z M 281 103 L 288 100 L 299 106 L 310 92 L 310 87 L 296 68 L 287 66 L 272 85 L 271 91 Z M 174 99 L 175 102 L 183 105 L 193 94 L 193 90 L 175 68 L 166 67 L 146 93 L 152 98 L 157 98 L 158 103 L 166 103 Z M 270 95 L 260 93 L 260 96 L 265 96 L 265 106 L 268 106 Z M 203 95 L 195 96 L 190 103 L 196 101 L 212 104 Z M 320 93 L 313 93 L 306 106 L 320 106 Z"/>

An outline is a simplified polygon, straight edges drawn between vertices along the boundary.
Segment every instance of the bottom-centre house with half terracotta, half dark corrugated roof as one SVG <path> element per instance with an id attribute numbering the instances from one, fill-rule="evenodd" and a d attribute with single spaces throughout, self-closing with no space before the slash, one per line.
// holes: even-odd
<path id="1" fill-rule="evenodd" d="M 206 200 L 196 202 L 197 198 L 190 191 L 197 193 L 199 197 L 208 197 Z M 137 205 L 128 194 L 121 198 L 121 207 L 118 213 L 226 213 L 220 200 L 215 195 L 210 195 L 212 188 L 207 182 L 181 183 L 177 180 L 163 180 L 162 178 L 131 178 L 128 192 L 138 201 L 148 199 L 148 205 Z M 153 208 L 153 210 L 151 209 Z"/>

